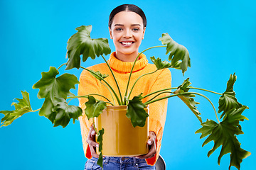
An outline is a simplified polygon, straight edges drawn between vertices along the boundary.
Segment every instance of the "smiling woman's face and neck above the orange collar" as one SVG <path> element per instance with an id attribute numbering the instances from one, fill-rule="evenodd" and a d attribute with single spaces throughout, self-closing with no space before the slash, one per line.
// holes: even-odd
<path id="1" fill-rule="evenodd" d="M 116 47 L 119 60 L 132 62 L 138 55 L 139 45 L 144 38 L 145 28 L 142 17 L 137 13 L 122 11 L 117 13 L 110 28 L 110 38 Z"/>

